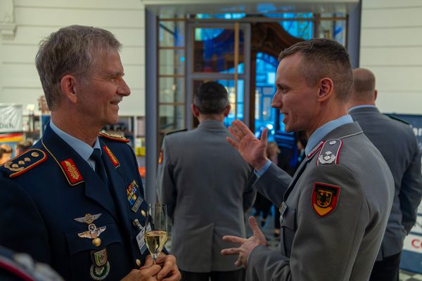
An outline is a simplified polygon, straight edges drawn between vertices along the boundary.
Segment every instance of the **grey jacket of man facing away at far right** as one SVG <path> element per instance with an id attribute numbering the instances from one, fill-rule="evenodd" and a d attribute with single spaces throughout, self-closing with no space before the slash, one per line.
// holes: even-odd
<path id="1" fill-rule="evenodd" d="M 402 251 L 404 237 L 416 222 L 421 202 L 421 151 L 411 127 L 387 117 L 376 107 L 350 111 L 365 135 L 380 150 L 394 178 L 390 218 L 377 260 Z"/>

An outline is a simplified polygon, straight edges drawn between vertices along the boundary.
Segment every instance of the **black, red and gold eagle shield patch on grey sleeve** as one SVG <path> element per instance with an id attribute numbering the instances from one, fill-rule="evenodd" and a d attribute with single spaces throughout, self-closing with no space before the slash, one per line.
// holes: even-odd
<path id="1" fill-rule="evenodd" d="M 322 218 L 331 213 L 337 206 L 340 186 L 326 183 L 314 183 L 312 190 L 312 208 Z"/>

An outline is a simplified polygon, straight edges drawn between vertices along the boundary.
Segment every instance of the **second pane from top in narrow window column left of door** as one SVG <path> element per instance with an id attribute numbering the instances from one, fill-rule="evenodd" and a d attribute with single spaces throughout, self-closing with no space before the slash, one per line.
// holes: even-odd
<path id="1" fill-rule="evenodd" d="M 184 75 L 184 50 L 160 49 L 160 74 Z"/>

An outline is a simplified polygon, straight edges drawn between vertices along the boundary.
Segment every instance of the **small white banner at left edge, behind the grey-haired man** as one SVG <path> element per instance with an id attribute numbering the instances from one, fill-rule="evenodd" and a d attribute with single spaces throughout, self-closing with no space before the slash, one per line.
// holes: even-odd
<path id="1" fill-rule="evenodd" d="M 0 104 L 0 133 L 22 132 L 22 105 Z"/>

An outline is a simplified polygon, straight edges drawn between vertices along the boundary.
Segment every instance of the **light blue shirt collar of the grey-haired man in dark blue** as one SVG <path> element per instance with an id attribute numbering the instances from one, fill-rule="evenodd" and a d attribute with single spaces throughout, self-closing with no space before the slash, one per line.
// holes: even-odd
<path id="1" fill-rule="evenodd" d="M 101 151 L 100 141 L 98 141 L 98 137 L 95 140 L 94 148 L 92 148 L 87 143 L 84 143 L 83 141 L 79 140 L 78 138 L 75 138 L 74 136 L 70 136 L 68 133 L 65 133 L 64 131 L 58 129 L 58 127 L 53 123 L 53 121 L 50 120 L 50 127 L 51 130 L 53 130 L 54 133 L 57 133 L 60 138 L 63 139 L 68 145 L 70 145 L 73 150 L 79 154 L 82 159 L 88 162 L 89 166 L 92 167 L 92 169 L 95 170 L 95 162 L 94 160 L 90 159 L 92 152 L 94 152 L 94 148 L 98 148 Z"/>

